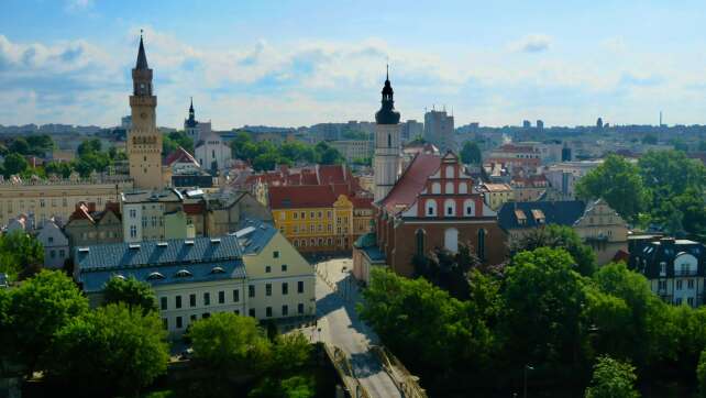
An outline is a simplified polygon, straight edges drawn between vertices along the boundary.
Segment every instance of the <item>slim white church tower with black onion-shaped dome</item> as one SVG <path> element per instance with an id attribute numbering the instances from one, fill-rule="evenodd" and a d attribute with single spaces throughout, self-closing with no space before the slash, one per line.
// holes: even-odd
<path id="1" fill-rule="evenodd" d="M 399 112 L 395 110 L 393 86 L 389 84 L 389 67 L 380 110 L 375 113 L 375 201 L 385 199 L 397 181 L 400 167 Z"/>

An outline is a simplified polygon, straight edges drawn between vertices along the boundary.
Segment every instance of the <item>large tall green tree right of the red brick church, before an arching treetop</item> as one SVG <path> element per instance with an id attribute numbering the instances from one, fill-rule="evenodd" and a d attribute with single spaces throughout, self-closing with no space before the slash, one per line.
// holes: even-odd
<path id="1" fill-rule="evenodd" d="M 540 247 L 512 257 L 500 331 L 516 368 L 542 364 L 565 372 L 581 364 L 585 281 L 572 264 L 563 248 Z"/>

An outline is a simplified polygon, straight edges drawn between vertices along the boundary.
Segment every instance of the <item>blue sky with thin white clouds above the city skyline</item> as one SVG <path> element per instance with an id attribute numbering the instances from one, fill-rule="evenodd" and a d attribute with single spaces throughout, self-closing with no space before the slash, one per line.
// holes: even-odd
<path id="1" fill-rule="evenodd" d="M 120 124 L 140 31 L 157 123 L 706 124 L 703 1 L 2 0 L 0 124 Z"/>

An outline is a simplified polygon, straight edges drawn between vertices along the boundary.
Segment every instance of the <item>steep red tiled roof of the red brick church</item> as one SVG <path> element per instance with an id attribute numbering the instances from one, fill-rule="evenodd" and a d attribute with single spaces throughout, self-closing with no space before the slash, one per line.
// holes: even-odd
<path id="1" fill-rule="evenodd" d="M 395 211 L 398 204 L 410 206 L 417 200 L 419 192 L 424 189 L 429 176 L 441 166 L 441 157 L 419 153 L 407 166 L 397 184 L 382 200 L 382 206 L 388 211 Z"/>

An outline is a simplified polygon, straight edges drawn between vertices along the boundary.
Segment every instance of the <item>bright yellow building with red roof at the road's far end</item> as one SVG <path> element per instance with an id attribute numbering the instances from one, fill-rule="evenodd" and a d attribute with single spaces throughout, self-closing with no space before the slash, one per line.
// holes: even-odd
<path id="1" fill-rule="evenodd" d="M 302 253 L 349 251 L 369 232 L 372 198 L 335 186 L 273 186 L 268 201 L 275 225 Z"/>

